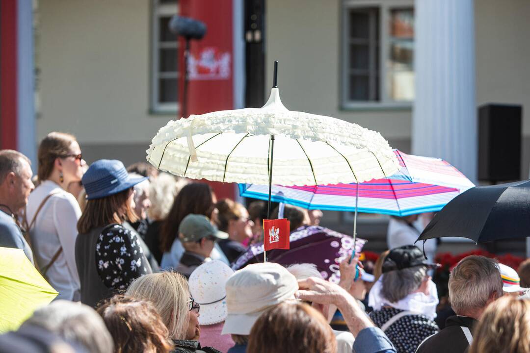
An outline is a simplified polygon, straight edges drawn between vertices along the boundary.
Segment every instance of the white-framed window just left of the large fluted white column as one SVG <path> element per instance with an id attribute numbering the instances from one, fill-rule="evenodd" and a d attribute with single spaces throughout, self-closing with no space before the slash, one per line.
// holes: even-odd
<path id="1" fill-rule="evenodd" d="M 407 107 L 414 99 L 412 0 L 343 2 L 342 106 Z"/>

